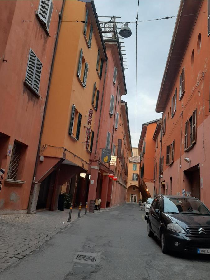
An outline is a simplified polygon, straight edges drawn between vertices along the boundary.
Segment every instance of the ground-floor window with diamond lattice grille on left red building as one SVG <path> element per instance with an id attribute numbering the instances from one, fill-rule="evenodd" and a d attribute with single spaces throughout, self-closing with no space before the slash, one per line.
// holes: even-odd
<path id="1" fill-rule="evenodd" d="M 12 180 L 17 179 L 18 167 L 21 160 L 21 152 L 22 152 L 21 144 L 15 141 L 12 149 L 8 172 L 7 172 L 8 179 L 12 179 Z"/>

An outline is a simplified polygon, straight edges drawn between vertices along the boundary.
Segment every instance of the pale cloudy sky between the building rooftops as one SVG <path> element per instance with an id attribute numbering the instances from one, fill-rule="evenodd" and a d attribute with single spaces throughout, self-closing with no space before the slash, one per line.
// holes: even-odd
<path id="1" fill-rule="evenodd" d="M 94 0 L 98 16 L 121 16 L 118 21 L 135 21 L 138 0 Z M 138 21 L 176 16 L 180 0 L 140 0 Z M 100 20 L 100 18 L 99 18 Z M 125 50 L 128 69 L 125 79 L 128 94 L 122 99 L 128 102 L 128 115 L 132 147 L 136 147 L 142 129 L 142 124 L 161 118 L 155 112 L 166 59 L 176 18 L 159 21 L 139 22 L 137 28 L 137 136 L 135 133 L 135 45 L 136 25 L 130 23 L 132 36 L 125 38 Z"/>

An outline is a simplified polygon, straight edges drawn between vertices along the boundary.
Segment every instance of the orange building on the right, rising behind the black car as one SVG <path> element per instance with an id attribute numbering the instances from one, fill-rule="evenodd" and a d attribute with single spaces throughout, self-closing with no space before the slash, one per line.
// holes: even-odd
<path id="1" fill-rule="evenodd" d="M 185 17 L 182 15 L 191 14 Z M 184 194 L 210 207 L 210 3 L 181 1 L 156 112 L 163 113 L 159 193 Z"/>

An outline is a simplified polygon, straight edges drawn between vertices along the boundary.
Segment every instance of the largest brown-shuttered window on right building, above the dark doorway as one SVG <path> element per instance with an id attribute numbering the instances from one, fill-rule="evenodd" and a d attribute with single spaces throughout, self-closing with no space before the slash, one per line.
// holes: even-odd
<path id="1" fill-rule="evenodd" d="M 196 143 L 196 112 L 195 109 L 193 114 L 190 116 L 189 120 L 185 123 L 185 133 L 184 133 L 184 150 L 189 151 L 193 145 Z"/>

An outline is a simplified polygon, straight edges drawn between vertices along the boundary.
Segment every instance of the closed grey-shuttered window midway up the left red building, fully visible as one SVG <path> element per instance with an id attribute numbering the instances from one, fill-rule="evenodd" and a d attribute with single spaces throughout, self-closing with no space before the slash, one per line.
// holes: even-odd
<path id="1" fill-rule="evenodd" d="M 40 78 L 42 71 L 42 63 L 35 53 L 30 49 L 28 65 L 26 70 L 25 84 L 30 87 L 37 95 L 39 95 Z"/>

